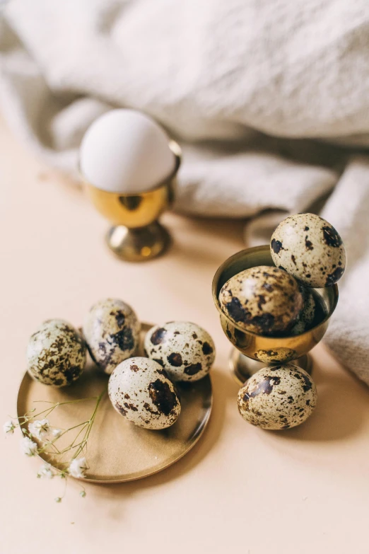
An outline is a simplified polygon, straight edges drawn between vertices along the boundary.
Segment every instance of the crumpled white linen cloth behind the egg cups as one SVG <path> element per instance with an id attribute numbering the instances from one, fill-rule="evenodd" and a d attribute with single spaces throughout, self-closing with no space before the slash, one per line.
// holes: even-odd
<path id="1" fill-rule="evenodd" d="M 253 217 L 249 244 L 287 213 L 336 226 L 348 270 L 326 341 L 369 384 L 368 0 L 0 6 L 0 105 L 50 165 L 76 176 L 90 122 L 135 108 L 182 145 L 178 210 Z"/>

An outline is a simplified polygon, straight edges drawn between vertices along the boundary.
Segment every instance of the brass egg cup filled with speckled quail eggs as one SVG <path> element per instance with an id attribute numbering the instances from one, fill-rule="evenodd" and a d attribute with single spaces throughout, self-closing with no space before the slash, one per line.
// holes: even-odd
<path id="1" fill-rule="evenodd" d="M 246 331 L 222 311 L 218 296 L 221 287 L 230 277 L 257 265 L 274 266 L 269 246 L 247 248 L 230 256 L 213 277 L 213 301 L 218 309 L 223 331 L 235 347 L 230 354 L 229 364 L 238 383 L 245 383 L 250 376 L 266 365 L 293 362 L 310 372 L 312 364 L 307 353 L 322 340 L 339 298 L 336 284 L 324 289 L 315 289 L 327 308 L 327 316 L 318 325 L 300 335 L 266 337 Z"/>

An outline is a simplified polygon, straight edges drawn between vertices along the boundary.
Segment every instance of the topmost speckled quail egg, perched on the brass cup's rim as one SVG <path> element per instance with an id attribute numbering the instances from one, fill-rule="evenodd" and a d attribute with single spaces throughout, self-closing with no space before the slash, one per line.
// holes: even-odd
<path id="1" fill-rule="evenodd" d="M 315 214 L 283 219 L 271 236 L 271 258 L 307 287 L 331 287 L 346 267 L 339 233 Z"/>

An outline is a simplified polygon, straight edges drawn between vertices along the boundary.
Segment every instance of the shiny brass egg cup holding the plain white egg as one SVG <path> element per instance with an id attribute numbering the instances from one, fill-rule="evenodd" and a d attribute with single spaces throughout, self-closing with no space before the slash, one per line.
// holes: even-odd
<path id="1" fill-rule="evenodd" d="M 107 246 L 122 260 L 151 260 L 170 245 L 170 234 L 158 219 L 174 200 L 181 149 L 174 141 L 170 141 L 169 147 L 175 156 L 174 171 L 163 183 L 139 195 L 107 192 L 84 180 L 91 202 L 112 223 L 107 231 Z"/>

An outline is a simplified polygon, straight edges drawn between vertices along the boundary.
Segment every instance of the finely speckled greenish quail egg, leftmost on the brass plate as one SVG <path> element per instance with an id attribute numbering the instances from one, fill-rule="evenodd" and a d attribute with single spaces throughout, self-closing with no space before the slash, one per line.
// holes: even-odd
<path id="1" fill-rule="evenodd" d="M 70 385 L 85 367 L 86 344 L 70 323 L 49 319 L 30 337 L 27 362 L 28 373 L 40 383 Z"/>

